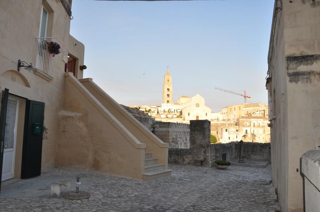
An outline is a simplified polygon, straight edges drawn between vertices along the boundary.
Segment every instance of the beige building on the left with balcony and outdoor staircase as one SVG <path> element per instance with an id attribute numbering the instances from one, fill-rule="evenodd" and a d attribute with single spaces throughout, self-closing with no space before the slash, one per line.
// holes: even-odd
<path id="1" fill-rule="evenodd" d="M 168 144 L 82 79 L 84 45 L 69 34 L 71 3 L 0 1 L 1 180 L 53 167 L 136 179 L 170 175 Z M 55 55 L 49 42 L 61 47 Z M 160 175 L 145 166 L 151 156 Z"/>

